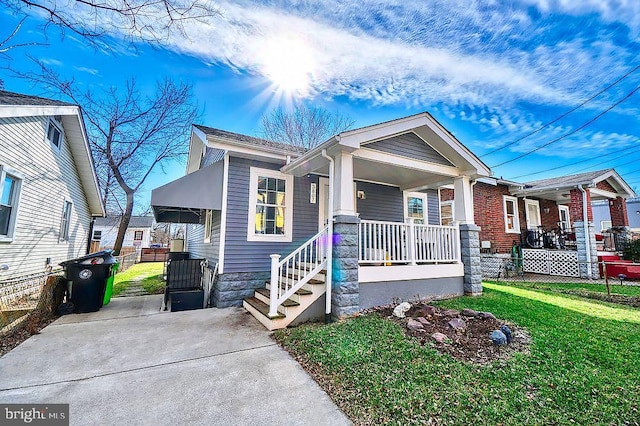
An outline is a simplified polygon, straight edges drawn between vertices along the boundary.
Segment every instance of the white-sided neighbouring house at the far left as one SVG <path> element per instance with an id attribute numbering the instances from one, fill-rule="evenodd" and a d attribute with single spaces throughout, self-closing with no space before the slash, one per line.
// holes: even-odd
<path id="1" fill-rule="evenodd" d="M 80 108 L 0 91 L 0 281 L 87 251 L 104 216 Z"/>

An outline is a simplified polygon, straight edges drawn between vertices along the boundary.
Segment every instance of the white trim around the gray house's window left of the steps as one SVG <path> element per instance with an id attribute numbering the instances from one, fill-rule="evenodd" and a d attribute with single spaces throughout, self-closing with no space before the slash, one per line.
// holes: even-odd
<path id="1" fill-rule="evenodd" d="M 284 234 L 256 234 L 256 201 L 258 193 L 258 177 L 266 176 L 285 181 L 284 195 Z M 293 237 L 293 176 L 285 175 L 277 170 L 251 167 L 249 172 L 249 209 L 247 220 L 247 241 L 291 242 Z"/>

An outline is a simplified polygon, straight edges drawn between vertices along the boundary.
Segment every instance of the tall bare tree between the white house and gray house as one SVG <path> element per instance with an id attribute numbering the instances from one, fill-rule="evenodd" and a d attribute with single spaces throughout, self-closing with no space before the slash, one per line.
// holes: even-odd
<path id="1" fill-rule="evenodd" d="M 136 192 L 153 170 L 184 160 L 188 152 L 191 123 L 198 118 L 191 86 L 165 79 L 157 82 L 155 93 L 147 97 L 131 79 L 98 95 L 80 91 L 73 80 L 64 80 L 40 65 L 42 74 L 29 78 L 82 107 L 93 155 L 102 171 L 103 197 L 107 205 L 124 202 L 114 245 L 119 253 Z"/>

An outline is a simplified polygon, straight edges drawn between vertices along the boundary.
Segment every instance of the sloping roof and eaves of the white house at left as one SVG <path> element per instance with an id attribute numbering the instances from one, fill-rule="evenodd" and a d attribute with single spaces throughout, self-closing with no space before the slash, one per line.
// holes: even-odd
<path id="1" fill-rule="evenodd" d="M 93 166 L 87 131 L 79 106 L 38 96 L 0 91 L 0 118 L 50 117 L 59 115 L 69 142 L 92 216 L 104 216 L 100 186 Z"/>

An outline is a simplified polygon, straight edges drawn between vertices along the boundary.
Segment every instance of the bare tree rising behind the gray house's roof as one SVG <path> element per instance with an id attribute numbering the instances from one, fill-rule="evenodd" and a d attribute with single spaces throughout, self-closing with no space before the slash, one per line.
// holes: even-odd
<path id="1" fill-rule="evenodd" d="M 355 120 L 348 115 L 297 104 L 290 111 L 280 107 L 265 114 L 260 132 L 265 139 L 310 149 L 354 124 Z"/>

